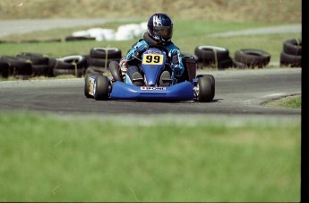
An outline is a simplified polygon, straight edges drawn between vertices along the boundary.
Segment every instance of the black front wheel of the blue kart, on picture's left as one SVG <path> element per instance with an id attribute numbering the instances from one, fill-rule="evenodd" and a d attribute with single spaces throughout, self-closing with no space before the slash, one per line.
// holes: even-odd
<path id="1" fill-rule="evenodd" d="M 98 75 L 95 79 L 93 97 L 95 100 L 108 99 L 108 78 L 106 75 Z"/>

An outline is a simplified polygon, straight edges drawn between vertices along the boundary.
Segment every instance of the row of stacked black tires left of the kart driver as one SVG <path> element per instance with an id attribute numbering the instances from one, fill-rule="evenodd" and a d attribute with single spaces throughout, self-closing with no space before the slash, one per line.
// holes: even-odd
<path id="1" fill-rule="evenodd" d="M 88 55 L 66 57 L 48 57 L 40 53 L 21 52 L 14 57 L 0 56 L 0 77 L 13 76 L 23 79 L 58 75 L 81 77 L 86 73 L 104 73 L 111 61 L 119 62 L 121 57 L 121 50 L 116 48 L 92 48 Z"/>

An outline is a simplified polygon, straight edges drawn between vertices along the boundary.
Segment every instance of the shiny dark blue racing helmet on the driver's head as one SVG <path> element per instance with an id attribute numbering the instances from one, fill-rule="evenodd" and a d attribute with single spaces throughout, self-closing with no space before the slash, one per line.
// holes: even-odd
<path id="1" fill-rule="evenodd" d="M 173 22 L 166 13 L 155 13 L 147 23 L 147 32 L 152 40 L 165 45 L 172 39 Z"/>

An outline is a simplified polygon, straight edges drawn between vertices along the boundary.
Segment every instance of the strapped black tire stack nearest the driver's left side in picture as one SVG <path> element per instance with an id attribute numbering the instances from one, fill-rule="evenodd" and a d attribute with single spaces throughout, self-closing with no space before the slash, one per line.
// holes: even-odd
<path id="1" fill-rule="evenodd" d="M 122 52 L 117 48 L 92 48 L 87 57 L 86 74 L 104 73 L 111 61 L 119 62 L 121 57 Z"/>

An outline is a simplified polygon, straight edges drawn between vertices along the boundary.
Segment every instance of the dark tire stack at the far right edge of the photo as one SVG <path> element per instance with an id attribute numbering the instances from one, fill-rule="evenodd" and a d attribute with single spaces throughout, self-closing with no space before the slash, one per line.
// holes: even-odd
<path id="1" fill-rule="evenodd" d="M 280 53 L 280 66 L 302 66 L 302 40 L 290 39 L 283 42 L 283 50 Z"/>

